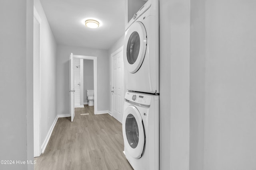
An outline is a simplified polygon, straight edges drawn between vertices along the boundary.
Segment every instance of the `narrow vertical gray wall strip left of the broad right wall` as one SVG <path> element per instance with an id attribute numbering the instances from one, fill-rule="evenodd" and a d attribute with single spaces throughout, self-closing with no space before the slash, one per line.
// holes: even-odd
<path id="1" fill-rule="evenodd" d="M 191 0 L 190 3 L 190 170 L 203 170 L 205 0 Z"/>

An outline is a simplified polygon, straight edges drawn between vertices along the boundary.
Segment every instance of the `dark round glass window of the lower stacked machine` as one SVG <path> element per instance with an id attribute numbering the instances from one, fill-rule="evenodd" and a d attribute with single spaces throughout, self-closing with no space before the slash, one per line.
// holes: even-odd
<path id="1" fill-rule="evenodd" d="M 125 121 L 126 138 L 130 147 L 133 149 L 137 147 L 139 142 L 139 128 L 135 117 L 128 114 Z"/>

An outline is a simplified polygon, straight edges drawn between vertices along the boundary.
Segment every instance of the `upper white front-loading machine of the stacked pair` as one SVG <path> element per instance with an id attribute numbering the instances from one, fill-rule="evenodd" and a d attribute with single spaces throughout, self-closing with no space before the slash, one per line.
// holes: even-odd
<path id="1" fill-rule="evenodd" d="M 159 0 L 148 0 L 129 21 L 124 38 L 128 90 L 159 93 Z"/>

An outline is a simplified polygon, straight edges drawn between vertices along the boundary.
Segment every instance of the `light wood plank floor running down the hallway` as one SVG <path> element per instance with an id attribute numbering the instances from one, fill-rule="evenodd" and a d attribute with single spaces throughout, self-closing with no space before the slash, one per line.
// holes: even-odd
<path id="1" fill-rule="evenodd" d="M 59 118 L 35 170 L 132 170 L 122 151 L 122 124 L 94 107 L 75 108 L 75 118 Z M 89 113 L 89 115 L 80 115 Z"/>

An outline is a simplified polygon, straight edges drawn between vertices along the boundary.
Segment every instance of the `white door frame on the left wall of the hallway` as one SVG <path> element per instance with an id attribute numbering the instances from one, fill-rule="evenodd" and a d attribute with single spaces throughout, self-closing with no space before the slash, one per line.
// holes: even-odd
<path id="1" fill-rule="evenodd" d="M 39 23 L 39 113 L 34 112 L 33 110 L 33 116 L 34 116 L 34 157 L 40 156 L 42 153 L 41 148 L 41 49 L 42 49 L 42 19 L 40 18 L 36 8 L 34 7 L 34 18 Z M 34 65 L 34 64 L 33 64 Z M 34 68 L 33 68 L 34 69 Z M 33 71 L 34 72 L 34 71 Z M 34 87 L 34 83 L 33 83 Z M 34 99 L 33 99 L 34 101 Z M 34 104 L 33 104 L 34 107 Z"/>

